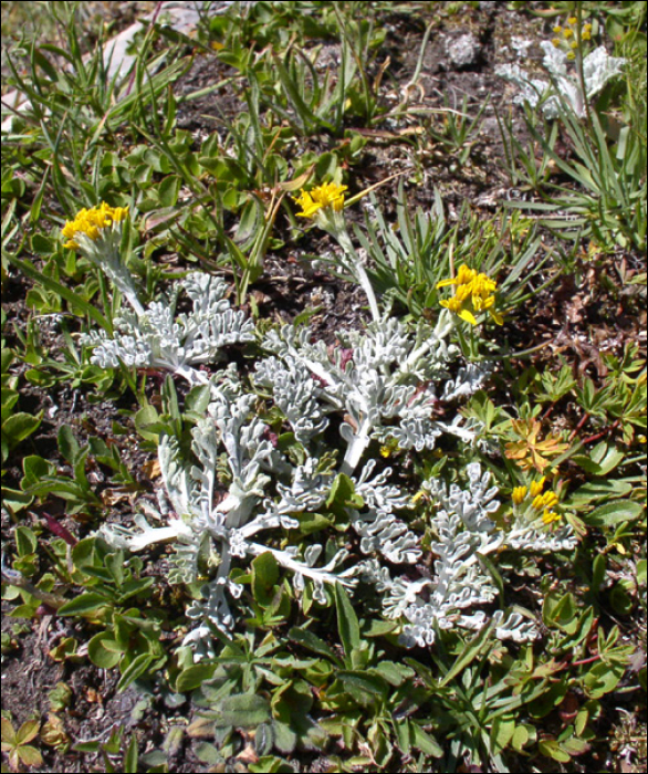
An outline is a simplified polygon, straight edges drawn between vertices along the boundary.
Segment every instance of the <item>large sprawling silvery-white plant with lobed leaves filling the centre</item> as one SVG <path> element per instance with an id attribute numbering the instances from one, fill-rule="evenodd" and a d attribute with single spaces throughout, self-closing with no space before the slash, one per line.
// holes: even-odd
<path id="1" fill-rule="evenodd" d="M 330 186 L 317 196 L 335 203 L 339 191 Z M 304 209 L 314 207 L 306 195 L 301 199 Z M 93 244 L 98 243 L 93 218 L 104 210 L 111 213 L 105 207 L 98 215 L 93 210 L 69 230 L 85 229 Z M 325 210 L 324 226 L 336 226 L 339 215 L 334 209 L 326 216 Z M 100 232 L 105 228 L 100 219 Z M 82 244 L 87 241 L 80 239 Z M 271 554 L 293 574 L 297 597 L 309 587 L 311 597 L 322 604 L 327 585 L 341 583 L 352 589 L 368 579 L 383 596 L 385 616 L 401 621 L 404 641 L 431 645 L 438 629 L 477 629 L 488 623 L 480 606 L 494 599 L 495 589 L 480 556 L 503 545 L 553 551 L 573 544 L 569 527 L 546 536 L 523 516 L 508 531 L 497 529 L 490 515 L 499 508 L 498 491 L 490 475 L 473 463 L 467 468 L 468 490 L 447 488 L 436 479 L 424 484 L 422 491 L 439 506 L 431 520 L 433 576 L 416 578 L 411 569 L 399 574 L 399 566 L 411 568 L 422 555 L 420 537 L 406 517 L 416 498 L 401 491 L 393 482 L 393 470 L 380 470 L 367 452 L 372 443 L 431 450 L 442 435 L 471 446 L 478 442 L 479 422 L 458 412 L 446 417 L 438 408 L 472 395 L 489 373 L 475 364 L 453 367 L 460 353 L 447 341 L 457 320 L 449 310 L 440 313 L 433 327 L 426 323 L 408 327 L 382 316 L 372 294 L 372 322 L 364 331 L 338 333 L 335 347 L 313 342 L 309 328 L 284 325 L 266 334 L 268 355 L 255 364 L 250 388 L 233 364 L 212 376 L 198 369 L 218 362 L 223 346 L 254 338 L 252 323 L 230 307 L 221 279 L 190 274 L 165 301 L 147 310 L 132 291 L 126 300 L 133 311 L 115 318 L 114 337 L 104 333 L 85 337 L 94 347 L 93 362 L 169 370 L 190 385 L 209 386 L 210 402 L 191 431 L 190 454 L 182 451 L 179 439 L 160 437 L 157 506 L 144 502 L 133 526 L 104 525 L 98 535 L 117 550 L 134 552 L 170 543 L 169 580 L 203 583 L 200 598 L 187 609 L 192 628 L 185 644 L 196 658 L 213 655 L 215 628 L 229 631 L 236 624 L 232 600 L 240 597 L 242 586 L 232 579 L 231 569 L 239 559 Z M 182 291 L 192 308 L 176 313 Z M 280 449 L 259 417 L 260 393 L 272 400 L 293 433 L 292 457 Z M 336 431 L 343 448 L 339 459 L 327 435 Z M 353 492 L 338 504 L 344 524 L 357 535 L 367 557 L 351 566 L 346 547 L 331 553 L 331 544 L 325 545 L 326 530 L 302 535 L 299 542 L 286 540 L 299 530 L 303 514 L 326 509 L 339 482 Z M 505 617 L 498 610 L 490 619 L 499 637 L 535 636 L 519 614 Z"/>

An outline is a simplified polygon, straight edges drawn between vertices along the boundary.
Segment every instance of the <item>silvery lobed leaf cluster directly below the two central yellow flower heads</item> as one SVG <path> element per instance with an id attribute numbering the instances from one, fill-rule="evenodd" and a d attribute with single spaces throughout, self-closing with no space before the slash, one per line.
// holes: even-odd
<path id="1" fill-rule="evenodd" d="M 382 320 L 364 332 L 338 333 L 339 346 L 331 352 L 322 341 L 311 343 L 307 328 L 285 325 L 266 336 L 264 347 L 275 357 L 257 365 L 255 378 L 273 390 L 297 439 L 323 429 L 326 412 L 344 412 L 341 471 L 351 474 L 372 440 L 394 439 L 401 449 L 421 451 L 433 449 L 443 432 L 466 442 L 477 438 L 474 422 L 431 418 L 441 398 L 471 395 L 487 375 L 472 366 L 450 379 L 448 365 L 459 354 L 445 341 L 452 330 L 446 312 L 435 328 L 421 324 L 414 333 L 397 320 Z"/>

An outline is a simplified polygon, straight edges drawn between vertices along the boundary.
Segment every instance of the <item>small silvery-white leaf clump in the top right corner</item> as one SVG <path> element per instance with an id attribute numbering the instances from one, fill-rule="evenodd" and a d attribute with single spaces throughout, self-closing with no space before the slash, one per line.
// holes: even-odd
<path id="1" fill-rule="evenodd" d="M 495 73 L 520 87 L 521 93 L 513 97 L 513 102 L 527 103 L 531 107 L 541 105 L 546 118 L 557 118 L 563 102 L 583 118 L 589 100 L 599 94 L 612 79 L 620 75 L 626 64 L 625 59 L 610 56 L 599 45 L 583 59 L 583 90 L 576 65 L 569 67 L 566 52 L 551 41 L 543 41 L 540 45 L 544 51 L 542 64 L 551 82 L 531 77 L 519 64 L 502 64 L 495 69 Z"/>

